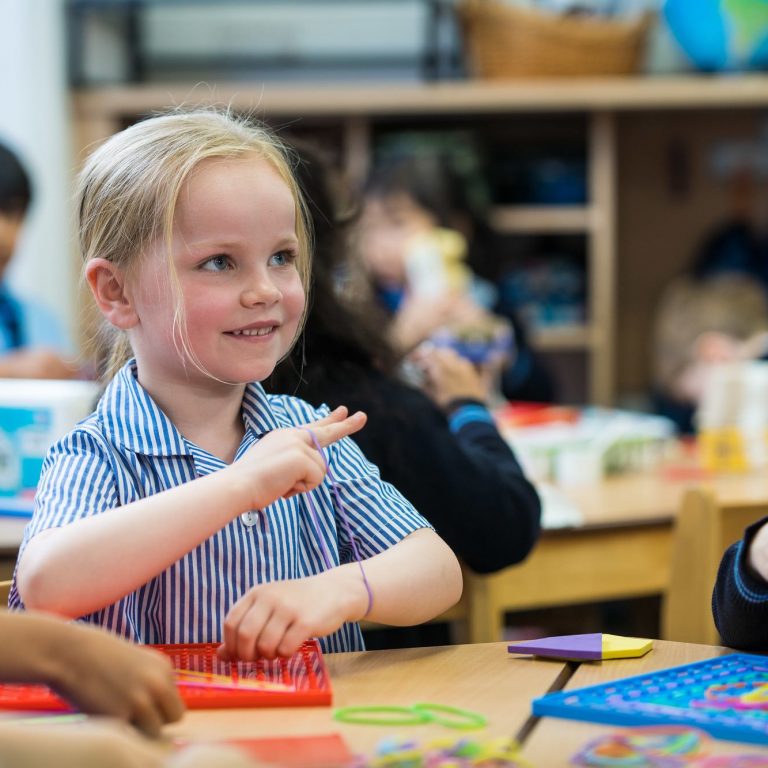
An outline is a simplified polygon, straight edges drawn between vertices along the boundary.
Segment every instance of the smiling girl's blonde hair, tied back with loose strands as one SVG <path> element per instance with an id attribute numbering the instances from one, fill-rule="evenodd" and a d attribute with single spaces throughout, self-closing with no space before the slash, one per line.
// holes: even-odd
<path id="1" fill-rule="evenodd" d="M 173 219 L 182 185 L 203 160 L 256 156 L 267 160 L 286 183 L 296 203 L 296 266 L 309 289 L 311 230 L 304 199 L 285 145 L 266 127 L 229 111 L 174 110 L 151 117 L 115 134 L 86 161 L 78 177 L 76 211 L 83 263 L 106 259 L 128 272 L 159 237 L 168 245 L 168 270 L 176 291 L 174 338 L 180 354 L 200 370 L 185 330 L 184 307 L 171 258 Z M 306 318 L 305 302 L 298 338 Z M 102 323 L 100 346 L 108 347 L 104 378 L 131 357 L 125 332 Z M 295 341 L 295 339 L 294 339 Z M 98 343 L 98 342 L 97 342 Z"/>

